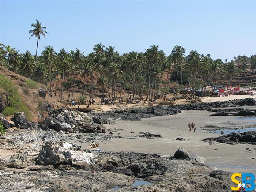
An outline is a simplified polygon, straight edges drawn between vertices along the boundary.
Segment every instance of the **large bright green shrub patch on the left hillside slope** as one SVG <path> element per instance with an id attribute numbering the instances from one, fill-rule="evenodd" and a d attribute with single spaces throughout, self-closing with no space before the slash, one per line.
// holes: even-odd
<path id="1" fill-rule="evenodd" d="M 8 116 L 13 115 L 15 111 L 24 112 L 27 118 L 31 118 L 30 109 L 22 102 L 20 95 L 17 92 L 17 88 L 9 79 L 0 75 L 0 87 L 5 90 L 9 95 L 10 104 L 7 106 L 2 114 Z"/>

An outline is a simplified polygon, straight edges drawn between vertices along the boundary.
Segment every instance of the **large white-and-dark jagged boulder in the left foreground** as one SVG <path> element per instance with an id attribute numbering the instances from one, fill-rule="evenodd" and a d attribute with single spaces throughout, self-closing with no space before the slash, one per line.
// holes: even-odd
<path id="1" fill-rule="evenodd" d="M 60 163 L 72 164 L 72 162 L 75 161 L 91 164 L 96 157 L 93 153 L 75 150 L 76 148 L 69 143 L 46 142 L 42 147 L 36 162 L 39 165 L 57 165 Z"/>

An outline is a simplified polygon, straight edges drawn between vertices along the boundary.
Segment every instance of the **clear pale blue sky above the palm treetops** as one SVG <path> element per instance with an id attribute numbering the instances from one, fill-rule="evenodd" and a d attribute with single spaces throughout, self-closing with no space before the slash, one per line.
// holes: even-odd
<path id="1" fill-rule="evenodd" d="M 119 53 L 143 52 L 152 44 L 169 54 L 175 45 L 233 59 L 256 53 L 256 1 L 6 1 L 0 0 L 0 42 L 35 54 L 29 40 L 38 19 L 49 35 L 44 46 L 90 53 L 99 42 Z"/>

